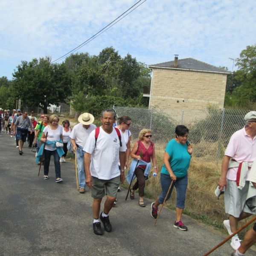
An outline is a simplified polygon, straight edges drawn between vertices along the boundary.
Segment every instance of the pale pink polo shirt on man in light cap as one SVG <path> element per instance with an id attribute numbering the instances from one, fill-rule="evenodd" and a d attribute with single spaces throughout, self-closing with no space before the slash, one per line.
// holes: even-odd
<path id="1" fill-rule="evenodd" d="M 227 145 L 225 155 L 232 157 L 232 159 L 237 162 L 248 162 L 253 163 L 256 157 L 256 136 L 251 139 L 251 137 L 246 133 L 245 128 L 236 131 L 230 138 L 230 142 Z M 227 179 L 236 180 L 236 173 L 238 168 L 230 168 L 227 172 Z M 250 169 L 248 169 L 246 180 L 250 174 Z"/>

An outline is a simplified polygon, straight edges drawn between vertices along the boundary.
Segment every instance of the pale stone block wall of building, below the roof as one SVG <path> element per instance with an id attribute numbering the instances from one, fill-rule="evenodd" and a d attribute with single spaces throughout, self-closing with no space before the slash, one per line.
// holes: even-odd
<path id="1" fill-rule="evenodd" d="M 154 69 L 152 79 L 150 107 L 224 107 L 227 75 Z"/>

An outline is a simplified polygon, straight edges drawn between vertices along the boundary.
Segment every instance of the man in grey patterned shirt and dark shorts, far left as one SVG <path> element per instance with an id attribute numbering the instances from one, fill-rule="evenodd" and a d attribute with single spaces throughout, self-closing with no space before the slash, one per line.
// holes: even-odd
<path id="1" fill-rule="evenodd" d="M 19 154 L 22 155 L 23 151 L 23 145 L 24 142 L 26 142 L 26 137 L 28 135 L 28 128 L 30 127 L 30 134 L 32 134 L 32 122 L 28 117 L 28 112 L 23 111 L 22 116 L 18 116 L 17 120 L 15 121 L 15 124 L 13 126 L 13 134 L 16 133 L 16 126 L 17 126 L 17 140 L 19 144 Z"/>

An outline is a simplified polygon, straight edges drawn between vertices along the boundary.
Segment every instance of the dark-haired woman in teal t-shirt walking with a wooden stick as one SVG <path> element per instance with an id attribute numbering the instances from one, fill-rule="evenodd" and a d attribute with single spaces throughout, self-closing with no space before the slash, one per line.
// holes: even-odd
<path id="1" fill-rule="evenodd" d="M 185 208 L 186 189 L 188 185 L 188 169 L 192 155 L 192 146 L 187 141 L 189 129 L 184 125 L 177 125 L 175 138 L 170 140 L 163 155 L 160 183 L 162 194 L 151 204 L 151 216 L 157 218 L 157 209 L 166 197 L 172 180 L 177 191 L 176 221 L 174 227 L 186 231 L 188 228 L 181 221 L 181 215 Z M 168 200 L 172 194 L 172 188 L 167 195 Z"/>

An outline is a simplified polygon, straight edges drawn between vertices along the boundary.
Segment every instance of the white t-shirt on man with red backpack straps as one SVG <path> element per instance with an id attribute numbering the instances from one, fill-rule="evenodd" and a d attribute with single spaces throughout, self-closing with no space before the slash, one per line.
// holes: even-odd
<path id="1" fill-rule="evenodd" d="M 91 154 L 90 173 L 101 180 L 110 180 L 120 175 L 118 168 L 119 151 L 126 151 L 122 132 L 122 147 L 115 128 L 111 134 L 99 128 L 99 137 L 95 146 L 95 130 L 92 131 L 84 145 L 84 151 Z"/>

